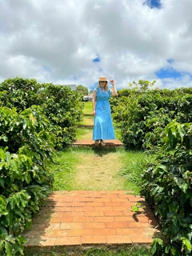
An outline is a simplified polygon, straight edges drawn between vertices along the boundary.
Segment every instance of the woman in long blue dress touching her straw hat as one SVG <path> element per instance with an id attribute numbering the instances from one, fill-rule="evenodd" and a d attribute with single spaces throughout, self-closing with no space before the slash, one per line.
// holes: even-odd
<path id="1" fill-rule="evenodd" d="M 106 77 L 99 77 L 98 87 L 94 89 L 93 93 L 93 114 L 94 114 L 94 130 L 93 140 L 96 146 L 101 143 L 105 146 L 104 139 L 114 139 L 114 127 L 111 119 L 110 111 L 110 96 L 118 94 L 114 85 L 114 80 L 110 80 L 112 89 L 108 87 Z"/>

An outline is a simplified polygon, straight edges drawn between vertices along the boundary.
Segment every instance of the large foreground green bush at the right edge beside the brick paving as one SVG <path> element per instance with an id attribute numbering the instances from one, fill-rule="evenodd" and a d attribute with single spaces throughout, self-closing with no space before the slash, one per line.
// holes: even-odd
<path id="1" fill-rule="evenodd" d="M 192 253 L 192 123 L 170 122 L 156 162 L 143 174 L 141 194 L 159 219 L 166 240 L 154 239 L 153 254 Z"/>

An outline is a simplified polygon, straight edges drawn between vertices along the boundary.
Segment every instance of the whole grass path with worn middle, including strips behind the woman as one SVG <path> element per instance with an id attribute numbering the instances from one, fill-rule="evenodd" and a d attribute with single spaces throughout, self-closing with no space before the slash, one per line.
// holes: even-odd
<path id="1" fill-rule="evenodd" d="M 86 114 L 90 114 L 91 104 L 85 103 Z M 93 121 L 93 118 L 89 117 L 89 120 Z M 91 138 L 92 131 L 80 128 L 78 138 Z M 134 190 L 137 194 L 147 158 L 142 152 L 124 149 L 71 147 L 58 152 L 54 158 L 57 164 L 50 165 L 54 190 Z"/>

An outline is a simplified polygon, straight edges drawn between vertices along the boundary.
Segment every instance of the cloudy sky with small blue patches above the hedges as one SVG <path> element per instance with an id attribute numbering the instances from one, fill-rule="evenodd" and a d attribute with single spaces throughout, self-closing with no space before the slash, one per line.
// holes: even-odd
<path id="1" fill-rule="evenodd" d="M 192 86 L 191 0 L 0 0 L 0 82 Z"/>

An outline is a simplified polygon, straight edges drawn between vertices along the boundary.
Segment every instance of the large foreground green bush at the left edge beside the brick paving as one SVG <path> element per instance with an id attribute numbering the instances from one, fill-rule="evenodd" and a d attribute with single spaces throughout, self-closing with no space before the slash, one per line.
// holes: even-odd
<path id="1" fill-rule="evenodd" d="M 1 107 L 0 123 L 0 254 L 22 255 L 20 234 L 52 190 L 46 162 L 56 138 L 38 106 L 20 114 Z"/>

